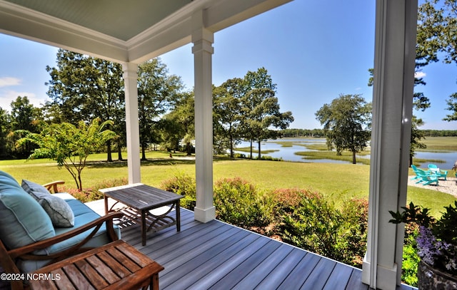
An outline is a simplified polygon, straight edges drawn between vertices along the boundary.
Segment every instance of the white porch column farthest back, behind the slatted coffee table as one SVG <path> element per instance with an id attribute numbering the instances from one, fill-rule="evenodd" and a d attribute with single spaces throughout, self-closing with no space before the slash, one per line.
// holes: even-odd
<path id="1" fill-rule="evenodd" d="M 141 182 L 140 131 L 138 121 L 138 64 L 123 63 L 126 94 L 127 167 L 129 184 Z"/>

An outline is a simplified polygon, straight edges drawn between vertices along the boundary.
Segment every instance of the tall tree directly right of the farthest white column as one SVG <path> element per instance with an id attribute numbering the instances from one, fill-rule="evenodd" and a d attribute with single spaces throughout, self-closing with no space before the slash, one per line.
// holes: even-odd
<path id="1" fill-rule="evenodd" d="M 142 160 L 146 160 L 146 147 L 157 141 L 156 123 L 173 108 L 182 88 L 181 78 L 169 75 L 160 58 L 153 58 L 139 66 L 138 105 Z"/>

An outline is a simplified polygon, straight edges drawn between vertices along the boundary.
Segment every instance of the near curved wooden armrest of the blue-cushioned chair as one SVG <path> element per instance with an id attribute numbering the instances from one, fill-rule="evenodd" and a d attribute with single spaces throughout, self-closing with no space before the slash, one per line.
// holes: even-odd
<path id="1" fill-rule="evenodd" d="M 34 260 L 46 260 L 46 259 L 62 259 L 65 258 L 65 256 L 69 256 L 69 254 L 74 254 L 75 252 L 81 252 L 81 247 L 86 244 L 86 242 L 89 242 L 89 239 L 94 237 L 94 234 L 100 229 L 101 225 L 106 222 L 106 231 L 111 239 L 111 242 L 115 241 L 116 239 L 119 239 L 116 235 L 116 232 L 114 232 L 114 227 L 113 227 L 113 219 L 114 218 L 120 218 L 124 214 L 121 212 L 111 212 L 109 214 L 104 215 L 103 217 L 99 217 L 98 219 L 95 219 L 92 222 L 89 222 L 88 224 L 84 224 L 84 226 L 77 227 L 76 229 L 72 229 L 69 232 L 65 232 L 64 234 L 59 234 L 55 237 L 51 237 L 49 239 L 43 239 L 39 242 L 33 243 L 33 244 L 28 244 L 24 247 L 16 248 L 16 249 L 11 249 L 8 251 L 9 257 L 11 259 L 16 259 L 16 258 L 21 258 L 21 259 L 34 259 Z M 50 247 L 53 244 L 57 244 L 59 242 L 62 242 L 66 239 L 69 239 L 71 237 L 76 236 L 77 234 L 81 234 L 82 232 L 86 232 L 89 229 L 93 229 L 91 234 L 89 234 L 86 239 L 81 241 L 79 244 L 76 244 L 74 247 L 71 247 L 69 249 L 66 249 L 62 252 L 58 252 L 56 254 L 51 254 L 51 255 L 36 255 L 36 254 L 29 254 L 30 252 L 34 252 L 39 249 L 45 249 L 47 247 Z"/>

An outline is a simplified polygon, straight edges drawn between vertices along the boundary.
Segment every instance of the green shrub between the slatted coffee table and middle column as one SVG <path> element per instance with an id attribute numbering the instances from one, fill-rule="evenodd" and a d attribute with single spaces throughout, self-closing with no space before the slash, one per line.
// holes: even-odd
<path id="1" fill-rule="evenodd" d="M 194 210 L 196 205 L 196 183 L 195 178 L 179 172 L 173 178 L 165 180 L 160 186 L 163 190 L 183 195 L 181 207 Z"/>

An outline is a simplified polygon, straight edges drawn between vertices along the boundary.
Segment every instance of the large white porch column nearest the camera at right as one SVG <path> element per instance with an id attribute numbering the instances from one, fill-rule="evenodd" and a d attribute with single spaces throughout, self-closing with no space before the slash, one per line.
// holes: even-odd
<path id="1" fill-rule="evenodd" d="M 368 242 L 363 283 L 395 289 L 401 280 L 402 225 L 389 210 L 406 205 L 411 141 L 417 0 L 376 1 Z"/>

